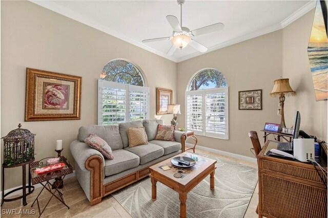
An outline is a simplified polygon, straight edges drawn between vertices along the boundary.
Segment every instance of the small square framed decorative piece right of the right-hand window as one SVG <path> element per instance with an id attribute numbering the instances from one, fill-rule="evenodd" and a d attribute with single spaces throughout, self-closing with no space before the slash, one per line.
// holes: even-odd
<path id="1" fill-rule="evenodd" d="M 262 90 L 239 91 L 239 110 L 262 110 Z"/>

